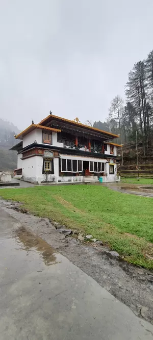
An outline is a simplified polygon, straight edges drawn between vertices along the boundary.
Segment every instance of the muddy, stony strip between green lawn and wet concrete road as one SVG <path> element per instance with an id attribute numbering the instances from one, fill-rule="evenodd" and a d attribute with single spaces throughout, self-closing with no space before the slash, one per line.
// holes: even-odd
<path id="1" fill-rule="evenodd" d="M 91 276 L 133 312 L 153 324 L 153 272 L 130 265 L 97 243 L 81 243 L 59 233 L 46 218 L 25 214 L 19 203 L 0 201 L 0 206 L 73 264 Z"/>

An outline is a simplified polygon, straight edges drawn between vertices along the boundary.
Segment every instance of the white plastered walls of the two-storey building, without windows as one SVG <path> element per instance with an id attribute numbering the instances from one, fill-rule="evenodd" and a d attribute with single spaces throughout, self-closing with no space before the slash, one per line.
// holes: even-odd
<path id="1" fill-rule="evenodd" d="M 42 144 L 43 146 L 48 146 L 48 144 L 42 143 L 42 130 L 39 128 L 34 129 L 32 132 L 27 134 L 23 137 L 23 145 L 22 147 L 25 148 L 33 143 Z M 48 150 L 52 150 L 50 146 L 53 147 L 59 147 L 63 148 L 63 143 L 60 143 L 57 141 L 57 133 L 52 133 L 52 144 L 48 146 Z M 80 149 L 82 151 L 85 151 L 85 148 Z M 86 151 L 89 151 L 88 149 Z M 89 151 L 90 152 L 90 151 Z M 114 146 L 114 154 L 110 154 L 110 145 L 107 144 L 107 151 L 105 151 L 105 154 L 108 155 L 109 158 L 113 158 L 113 156 L 116 156 L 116 146 Z M 96 153 L 95 153 L 96 155 Z M 59 154 L 59 157 L 61 159 L 68 159 L 68 160 L 78 160 L 78 161 L 87 161 L 87 162 L 98 162 L 98 163 L 104 163 L 105 168 L 104 172 L 106 176 L 103 176 L 103 181 L 115 181 L 116 180 L 116 164 L 113 164 L 114 166 L 114 174 L 110 174 L 110 163 L 109 160 L 106 158 L 100 159 L 96 157 L 88 157 L 88 156 L 75 156 L 75 155 L 69 155 L 69 154 Z M 110 160 L 111 161 L 111 160 Z M 52 161 L 54 163 L 54 174 L 47 174 L 47 181 L 54 181 L 54 182 L 65 182 L 65 181 L 83 181 L 84 177 L 82 175 L 80 176 L 59 176 L 59 158 L 55 157 Z M 113 161 L 111 162 L 113 163 Z M 38 182 L 39 184 L 46 180 L 46 174 L 43 174 L 43 154 L 42 155 L 33 155 L 28 156 L 28 158 L 22 159 L 22 153 L 18 153 L 17 158 L 17 168 L 22 168 L 22 178 L 24 180 L 30 181 L 30 182 Z M 74 172 L 74 171 L 73 171 Z M 78 172 L 78 171 L 76 171 Z M 97 173 L 98 176 L 98 173 Z M 97 176 L 91 176 L 91 178 L 94 180 L 98 180 Z M 17 177 L 17 176 L 16 176 Z M 18 176 L 19 177 L 19 176 Z"/>

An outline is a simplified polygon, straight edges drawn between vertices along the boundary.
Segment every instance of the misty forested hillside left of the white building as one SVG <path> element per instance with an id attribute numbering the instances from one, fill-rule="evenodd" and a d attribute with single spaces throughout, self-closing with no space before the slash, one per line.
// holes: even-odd
<path id="1" fill-rule="evenodd" d="M 0 171 L 14 170 L 17 167 L 17 152 L 9 151 L 16 144 L 17 126 L 0 118 Z"/>

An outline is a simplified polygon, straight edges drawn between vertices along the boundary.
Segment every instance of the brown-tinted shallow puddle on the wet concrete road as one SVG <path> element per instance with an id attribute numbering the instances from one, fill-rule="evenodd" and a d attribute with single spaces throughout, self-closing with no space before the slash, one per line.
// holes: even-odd
<path id="1" fill-rule="evenodd" d="M 46 266 L 59 263 L 56 257 L 55 249 L 41 238 L 35 236 L 32 232 L 26 230 L 24 227 L 21 227 L 15 231 L 15 238 L 18 244 L 21 245 L 21 248 L 19 249 L 27 250 L 27 254 L 29 251 L 37 250 L 41 254 Z"/>

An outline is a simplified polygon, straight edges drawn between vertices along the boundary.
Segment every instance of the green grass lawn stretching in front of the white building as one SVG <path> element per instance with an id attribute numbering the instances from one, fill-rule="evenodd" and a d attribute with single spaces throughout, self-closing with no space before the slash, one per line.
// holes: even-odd
<path id="1" fill-rule="evenodd" d="M 153 269 L 153 199 L 94 185 L 1 189 L 5 199 L 102 240 L 127 261 Z"/>

